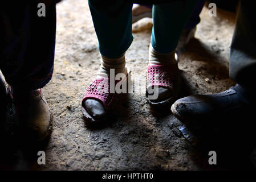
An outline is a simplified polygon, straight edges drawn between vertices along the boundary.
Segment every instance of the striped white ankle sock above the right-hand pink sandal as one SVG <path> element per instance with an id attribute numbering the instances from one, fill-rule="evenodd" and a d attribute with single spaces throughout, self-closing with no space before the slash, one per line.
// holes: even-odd
<path id="1" fill-rule="evenodd" d="M 149 64 L 157 65 L 176 65 L 175 50 L 170 53 L 159 53 L 150 44 L 149 46 Z"/>

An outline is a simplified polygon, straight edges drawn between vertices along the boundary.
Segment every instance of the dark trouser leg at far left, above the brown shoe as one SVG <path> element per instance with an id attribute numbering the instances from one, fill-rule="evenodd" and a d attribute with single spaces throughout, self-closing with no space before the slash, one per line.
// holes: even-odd
<path id="1" fill-rule="evenodd" d="M 15 89 L 43 88 L 54 68 L 55 0 L 46 3 L 46 16 L 36 2 L 3 3 L 0 7 L 0 69 Z"/>

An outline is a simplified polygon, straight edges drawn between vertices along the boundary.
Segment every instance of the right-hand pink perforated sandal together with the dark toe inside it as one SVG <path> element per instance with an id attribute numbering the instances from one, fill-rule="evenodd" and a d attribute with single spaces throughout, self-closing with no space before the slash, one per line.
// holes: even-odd
<path id="1" fill-rule="evenodd" d="M 170 105 L 180 92 L 177 65 L 148 65 L 146 98 L 152 106 Z"/>

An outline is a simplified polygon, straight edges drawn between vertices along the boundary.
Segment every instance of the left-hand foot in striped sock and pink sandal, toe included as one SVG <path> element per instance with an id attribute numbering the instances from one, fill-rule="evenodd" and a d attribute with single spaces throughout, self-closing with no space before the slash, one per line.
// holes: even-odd
<path id="1" fill-rule="evenodd" d="M 119 94 L 114 90 L 110 91 L 110 71 L 124 73 L 127 76 L 127 68 L 125 68 L 125 57 L 122 55 L 117 59 L 108 59 L 102 56 L 100 71 L 97 77 L 88 86 L 84 98 L 82 100 L 82 111 L 85 121 L 90 123 L 102 122 L 107 119 L 107 115 L 113 109 L 113 105 Z M 120 80 L 126 81 L 126 80 Z M 114 85 L 119 82 L 115 81 Z"/>

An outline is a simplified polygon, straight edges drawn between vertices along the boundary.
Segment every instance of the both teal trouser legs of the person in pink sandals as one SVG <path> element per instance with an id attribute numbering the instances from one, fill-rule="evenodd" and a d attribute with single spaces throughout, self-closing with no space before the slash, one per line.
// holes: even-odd
<path id="1" fill-rule="evenodd" d="M 172 52 L 197 0 L 173 1 L 153 6 L 152 46 Z M 116 58 L 132 43 L 132 3 L 123 0 L 88 0 L 101 55 Z"/>

